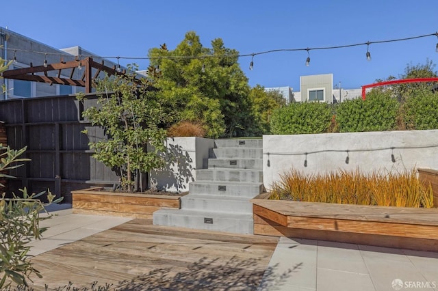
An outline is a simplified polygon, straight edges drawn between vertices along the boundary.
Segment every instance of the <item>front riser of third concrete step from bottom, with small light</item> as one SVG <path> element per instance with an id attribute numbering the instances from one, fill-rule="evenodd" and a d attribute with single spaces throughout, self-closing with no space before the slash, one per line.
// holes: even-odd
<path id="1" fill-rule="evenodd" d="M 225 190 L 219 190 L 219 186 L 225 186 Z M 192 182 L 189 184 L 189 193 L 205 195 L 225 195 L 253 198 L 263 193 L 263 184 L 260 185 L 230 185 L 224 182 L 219 184 L 200 184 Z"/>

